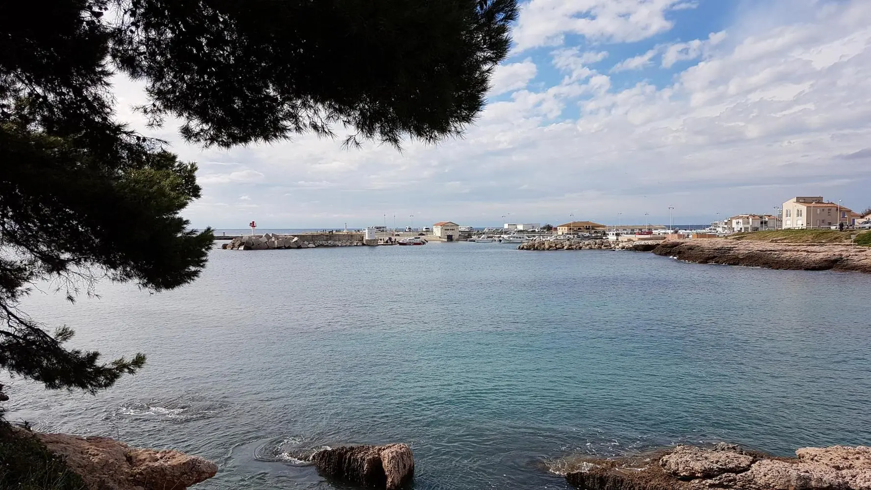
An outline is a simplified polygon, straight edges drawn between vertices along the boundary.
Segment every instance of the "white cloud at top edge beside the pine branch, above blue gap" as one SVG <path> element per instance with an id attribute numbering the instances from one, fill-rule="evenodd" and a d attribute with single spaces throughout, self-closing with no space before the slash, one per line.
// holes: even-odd
<path id="1" fill-rule="evenodd" d="M 517 22 L 517 51 L 564 43 L 566 34 L 592 41 L 635 42 L 672 29 L 669 10 L 692 8 L 679 0 L 531 0 Z"/>

